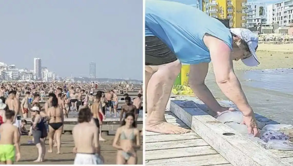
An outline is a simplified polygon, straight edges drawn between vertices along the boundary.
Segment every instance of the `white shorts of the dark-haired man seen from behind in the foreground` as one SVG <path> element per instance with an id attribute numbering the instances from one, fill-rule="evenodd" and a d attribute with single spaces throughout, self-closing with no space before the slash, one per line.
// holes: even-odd
<path id="1" fill-rule="evenodd" d="M 76 153 L 74 165 L 101 165 L 102 160 L 95 154 Z"/>

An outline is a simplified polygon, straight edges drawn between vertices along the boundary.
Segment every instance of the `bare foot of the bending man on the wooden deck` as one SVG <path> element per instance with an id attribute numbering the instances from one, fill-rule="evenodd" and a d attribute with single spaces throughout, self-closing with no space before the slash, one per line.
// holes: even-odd
<path id="1" fill-rule="evenodd" d="M 158 132 L 162 134 L 183 134 L 191 130 L 175 126 L 164 121 L 146 122 L 146 131 Z"/>

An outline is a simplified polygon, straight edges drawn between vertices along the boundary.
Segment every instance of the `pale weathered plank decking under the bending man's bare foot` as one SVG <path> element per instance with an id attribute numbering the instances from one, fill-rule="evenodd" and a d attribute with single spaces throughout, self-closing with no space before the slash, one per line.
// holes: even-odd
<path id="1" fill-rule="evenodd" d="M 189 128 L 171 111 L 165 111 L 168 123 Z M 195 132 L 186 134 L 145 134 L 146 165 L 151 166 L 232 166 Z"/>

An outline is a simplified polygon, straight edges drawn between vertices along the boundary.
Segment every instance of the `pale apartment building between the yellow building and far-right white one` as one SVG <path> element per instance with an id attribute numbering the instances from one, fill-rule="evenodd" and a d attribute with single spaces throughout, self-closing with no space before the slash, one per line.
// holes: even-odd
<path id="1" fill-rule="evenodd" d="M 248 3 L 246 27 L 267 23 L 266 5 L 263 3 Z"/>

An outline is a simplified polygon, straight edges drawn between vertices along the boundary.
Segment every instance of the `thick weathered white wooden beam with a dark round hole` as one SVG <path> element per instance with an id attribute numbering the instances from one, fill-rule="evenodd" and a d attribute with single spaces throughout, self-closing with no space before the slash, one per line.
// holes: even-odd
<path id="1" fill-rule="evenodd" d="M 181 102 L 171 101 L 170 111 L 232 165 L 289 166 L 287 162 L 282 161 L 277 155 L 243 137 L 197 106 L 195 108 L 181 108 L 178 106 Z M 194 104 L 196 105 L 196 103 Z M 233 133 L 234 135 L 226 136 L 224 133 Z"/>

